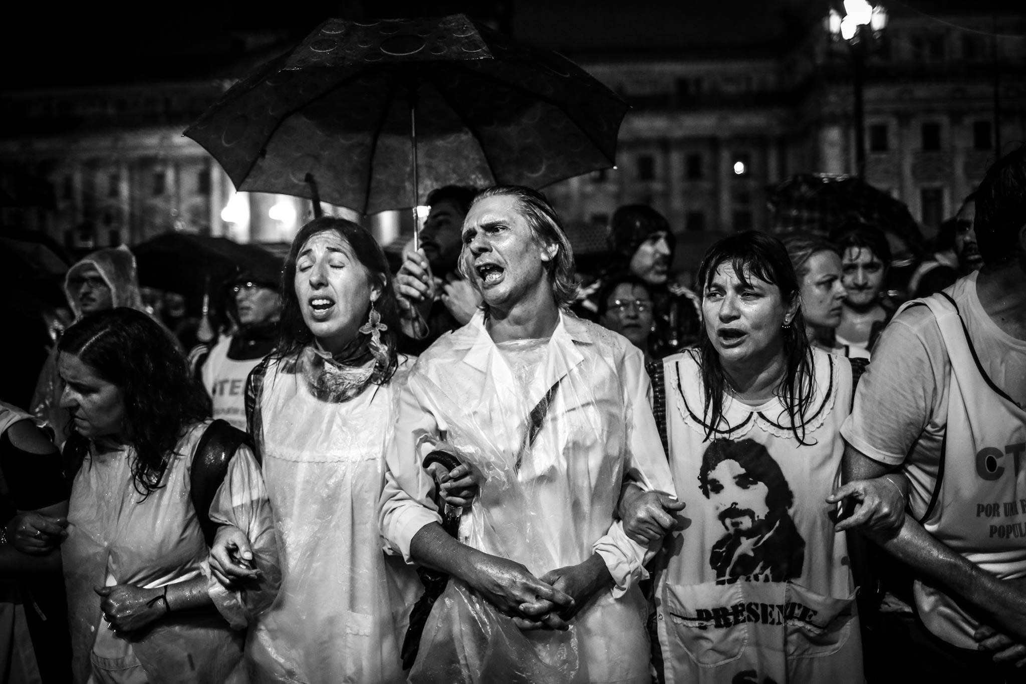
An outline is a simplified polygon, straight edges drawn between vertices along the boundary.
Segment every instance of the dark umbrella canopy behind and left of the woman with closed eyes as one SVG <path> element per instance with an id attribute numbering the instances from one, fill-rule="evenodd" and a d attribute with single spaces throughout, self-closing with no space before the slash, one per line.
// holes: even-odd
<path id="1" fill-rule="evenodd" d="M 179 292 L 194 301 L 242 272 L 262 282 L 281 279 L 280 257 L 228 238 L 165 233 L 136 245 L 132 252 L 140 285 Z"/>

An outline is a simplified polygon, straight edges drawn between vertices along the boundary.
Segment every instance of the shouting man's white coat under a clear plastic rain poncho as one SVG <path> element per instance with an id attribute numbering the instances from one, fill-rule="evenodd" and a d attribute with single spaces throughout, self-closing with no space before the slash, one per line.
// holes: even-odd
<path id="1" fill-rule="evenodd" d="M 413 535 L 439 520 L 421 461 L 442 448 L 483 476 L 461 541 L 538 577 L 597 552 L 616 586 L 593 597 L 567 632 L 520 632 L 450 578 L 410 681 L 648 681 L 637 588 L 647 550 L 614 519 L 625 479 L 673 491 L 648 391 L 638 350 L 569 315 L 551 338 L 496 345 L 479 313 L 420 358 L 400 402 L 382 500 L 382 531 L 394 549 L 409 559 Z"/>

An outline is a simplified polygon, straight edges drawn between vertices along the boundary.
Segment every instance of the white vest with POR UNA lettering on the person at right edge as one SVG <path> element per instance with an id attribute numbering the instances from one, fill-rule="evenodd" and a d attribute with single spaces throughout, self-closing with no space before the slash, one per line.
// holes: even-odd
<path id="1" fill-rule="evenodd" d="M 980 366 L 954 301 L 921 299 L 937 319 L 951 359 L 948 424 L 933 500 L 913 514 L 928 532 L 1001 579 L 1026 575 L 1026 411 Z M 920 509 L 920 510 L 915 510 Z M 916 580 L 926 628 L 960 648 L 977 648 L 979 622 L 934 587 Z"/>

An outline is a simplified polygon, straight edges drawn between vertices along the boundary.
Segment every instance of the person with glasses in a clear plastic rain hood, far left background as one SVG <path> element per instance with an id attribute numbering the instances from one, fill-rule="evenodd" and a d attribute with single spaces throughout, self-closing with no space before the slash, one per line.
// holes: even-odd
<path id="1" fill-rule="evenodd" d="M 89 314 L 117 307 L 145 311 L 135 256 L 124 246 L 97 249 L 68 269 L 65 294 L 76 322 Z M 31 412 L 53 431 L 58 447 L 68 436 L 68 414 L 60 407 L 63 392 L 54 345 L 39 373 Z"/>

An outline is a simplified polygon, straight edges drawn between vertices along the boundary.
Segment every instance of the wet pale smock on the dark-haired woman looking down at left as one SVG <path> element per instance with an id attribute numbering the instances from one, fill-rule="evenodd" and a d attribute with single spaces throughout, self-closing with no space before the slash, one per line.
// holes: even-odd
<path id="1" fill-rule="evenodd" d="M 260 469 L 239 446 L 210 505 L 210 519 L 249 537 L 265 579 L 229 591 L 210 575 L 190 496 L 193 452 L 208 421 L 193 426 L 170 455 L 161 487 L 144 496 L 131 475 L 132 449 L 89 446 L 72 485 L 62 546 L 75 681 L 218 684 L 246 681 L 244 627 L 274 598 L 278 576 L 273 519 Z M 93 587 L 155 588 L 206 577 L 212 607 L 171 612 L 137 634 L 107 629 Z M 247 586 L 248 587 L 248 586 Z"/>

